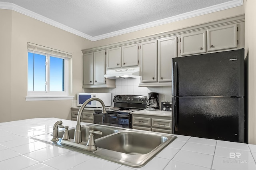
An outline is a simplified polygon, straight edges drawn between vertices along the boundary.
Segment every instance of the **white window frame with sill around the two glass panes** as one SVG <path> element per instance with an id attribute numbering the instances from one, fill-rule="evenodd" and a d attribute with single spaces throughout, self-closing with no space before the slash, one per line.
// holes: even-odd
<path id="1" fill-rule="evenodd" d="M 34 45 L 34 46 L 33 46 Z M 40 49 L 37 51 L 35 50 L 36 47 L 39 47 Z M 33 50 L 31 50 L 33 48 Z M 45 100 L 73 100 L 74 96 L 69 96 L 69 75 L 71 73 L 70 69 L 70 63 L 71 63 L 71 57 L 64 57 L 65 54 L 61 54 L 62 56 L 58 55 L 60 51 L 56 50 L 49 52 L 48 47 L 45 47 L 46 50 L 44 51 L 44 47 L 32 43 L 28 43 L 28 53 L 37 53 L 41 55 L 46 56 L 46 64 L 50 65 L 50 56 L 51 57 L 57 57 L 64 59 L 64 91 L 48 91 L 50 89 L 50 67 L 47 67 L 46 69 L 46 91 L 28 91 L 28 94 L 26 96 L 26 101 L 45 101 Z M 54 49 L 50 49 L 54 50 Z M 41 52 L 42 51 L 42 52 Z M 55 54 L 52 54 L 55 53 Z M 56 55 L 57 54 L 57 55 Z M 72 55 L 71 55 L 72 56 Z"/>

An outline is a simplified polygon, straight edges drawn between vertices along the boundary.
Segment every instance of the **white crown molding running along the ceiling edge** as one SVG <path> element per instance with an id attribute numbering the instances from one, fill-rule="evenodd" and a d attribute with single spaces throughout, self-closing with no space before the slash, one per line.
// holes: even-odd
<path id="1" fill-rule="evenodd" d="M 187 12 L 187 13 L 180 14 L 180 15 L 177 15 L 177 16 L 164 18 L 162 20 L 157 20 L 157 21 L 154 21 L 154 22 L 149 22 L 149 23 L 146 23 L 146 24 L 141 24 L 139 26 L 134 26 L 134 27 L 126 28 L 126 29 L 119 30 L 119 31 L 116 31 L 116 32 L 111 32 L 111 33 L 108 33 L 108 34 L 102 34 L 100 36 L 94 36 L 94 37 L 89 36 L 87 34 L 84 34 L 80 31 L 75 30 L 73 28 L 70 28 L 68 26 L 65 26 L 64 24 L 60 24 L 59 22 L 56 22 L 56 21 L 51 20 L 49 18 L 46 18 L 46 17 L 44 17 L 42 15 L 39 15 L 35 12 L 32 12 L 32 11 L 27 10 L 25 8 L 22 8 L 22 7 L 20 7 L 16 4 L 12 4 L 12 3 L 8 3 L 8 2 L 0 2 L 0 9 L 14 10 L 14 11 L 19 12 L 21 14 L 24 14 L 26 16 L 30 16 L 30 17 L 32 17 L 36 20 L 40 20 L 42 22 L 45 22 L 46 24 L 50 24 L 52 26 L 55 26 L 57 28 L 65 30 L 67 32 L 70 32 L 72 34 L 80 36 L 82 38 L 86 38 L 86 39 L 91 40 L 91 41 L 97 41 L 97 40 L 102 40 L 102 39 L 106 39 L 106 38 L 111 38 L 111 37 L 114 37 L 114 36 L 119 36 L 119 35 L 122 35 L 122 34 L 135 32 L 135 31 L 138 31 L 138 30 L 143 30 L 143 29 L 146 29 L 146 28 L 151 28 L 151 27 L 155 27 L 155 26 L 168 24 L 168 23 L 171 23 L 171 22 L 176 22 L 176 21 L 179 21 L 179 20 L 184 20 L 184 19 L 188 19 L 188 18 L 192 18 L 192 17 L 204 15 L 204 14 L 209 14 L 209 13 L 212 13 L 212 12 L 217 12 L 217 11 L 220 11 L 220 10 L 226 10 L 226 9 L 234 8 L 234 7 L 241 6 L 241 5 L 243 5 L 243 0 L 234 0 L 234 1 L 225 2 L 225 3 L 222 3 L 222 4 L 210 6 L 208 8 L 203 8 L 203 9 L 200 9 L 200 10 Z"/>

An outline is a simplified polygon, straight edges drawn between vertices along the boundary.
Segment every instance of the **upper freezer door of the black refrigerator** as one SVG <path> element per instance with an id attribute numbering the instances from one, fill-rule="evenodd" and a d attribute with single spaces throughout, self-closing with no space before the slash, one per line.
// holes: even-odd
<path id="1" fill-rule="evenodd" d="M 173 96 L 244 96 L 244 49 L 172 59 Z"/>

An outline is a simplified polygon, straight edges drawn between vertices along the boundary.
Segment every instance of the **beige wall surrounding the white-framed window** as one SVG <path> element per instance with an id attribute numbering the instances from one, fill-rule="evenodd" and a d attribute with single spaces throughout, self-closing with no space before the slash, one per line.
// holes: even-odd
<path id="1" fill-rule="evenodd" d="M 36 117 L 71 119 L 71 100 L 25 101 L 27 43 L 72 53 L 70 95 L 75 95 L 83 90 L 81 49 L 92 47 L 92 42 L 12 10 L 0 10 L 0 22 L 0 122 Z"/>

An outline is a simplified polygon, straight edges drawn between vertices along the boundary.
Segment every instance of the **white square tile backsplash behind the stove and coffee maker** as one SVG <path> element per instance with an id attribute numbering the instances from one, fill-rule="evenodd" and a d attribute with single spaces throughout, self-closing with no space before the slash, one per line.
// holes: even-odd
<path id="1" fill-rule="evenodd" d="M 134 79 L 116 79 L 116 88 L 86 88 L 84 93 L 111 93 L 112 99 L 115 95 L 143 95 L 148 99 L 148 93 L 159 93 L 159 102 L 171 101 L 171 86 L 164 87 L 139 87 L 140 77 Z M 113 101 L 112 101 L 113 106 Z"/>

